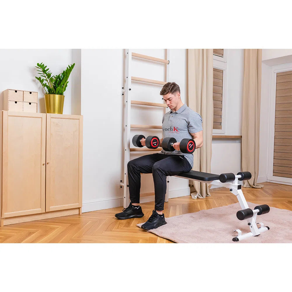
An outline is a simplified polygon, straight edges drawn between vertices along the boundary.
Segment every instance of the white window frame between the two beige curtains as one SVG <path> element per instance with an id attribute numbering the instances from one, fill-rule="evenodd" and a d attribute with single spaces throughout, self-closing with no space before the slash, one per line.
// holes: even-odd
<path id="1" fill-rule="evenodd" d="M 223 70 L 223 89 L 222 89 L 222 129 L 213 129 L 213 134 L 226 133 L 226 118 L 227 118 L 227 54 L 228 50 L 224 49 L 223 58 L 213 55 L 213 68 Z M 217 57 L 217 58 L 215 58 Z M 218 60 L 220 58 L 220 60 Z"/>

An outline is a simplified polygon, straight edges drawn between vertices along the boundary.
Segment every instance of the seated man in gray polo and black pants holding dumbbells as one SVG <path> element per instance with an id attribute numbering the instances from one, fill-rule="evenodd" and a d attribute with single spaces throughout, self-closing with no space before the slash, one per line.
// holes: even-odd
<path id="1" fill-rule="evenodd" d="M 203 146 L 202 118 L 180 99 L 180 87 L 175 82 L 164 84 L 160 91 L 170 109 L 162 118 L 163 138 L 173 137 L 177 141 L 194 139 L 196 148 Z M 163 140 L 160 140 L 160 144 Z M 141 140 L 145 146 L 145 139 Z M 166 224 L 163 210 L 166 194 L 166 176 L 189 172 L 193 167 L 194 155 L 182 153 L 180 142 L 174 143 L 175 151 L 161 150 L 159 153 L 144 155 L 128 162 L 130 205 L 115 215 L 118 219 L 141 218 L 144 216 L 140 201 L 140 173 L 152 173 L 155 192 L 155 208 L 141 228 L 150 230 Z"/>

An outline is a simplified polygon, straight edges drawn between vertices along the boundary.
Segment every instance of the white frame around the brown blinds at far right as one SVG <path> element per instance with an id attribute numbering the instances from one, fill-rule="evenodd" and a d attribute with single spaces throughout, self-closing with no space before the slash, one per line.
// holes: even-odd
<path id="1" fill-rule="evenodd" d="M 274 136 L 275 136 L 275 109 L 276 109 L 276 81 L 277 73 L 292 71 L 292 63 L 276 65 L 271 67 L 271 87 L 270 87 L 270 115 L 269 115 L 269 142 L 268 142 L 268 171 L 267 181 L 283 182 L 292 184 L 292 178 L 284 178 L 273 175 L 274 164 Z"/>

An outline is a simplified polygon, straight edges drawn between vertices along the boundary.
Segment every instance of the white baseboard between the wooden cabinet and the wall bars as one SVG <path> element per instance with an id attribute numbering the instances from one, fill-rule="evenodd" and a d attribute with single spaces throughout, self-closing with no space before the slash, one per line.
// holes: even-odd
<path id="1" fill-rule="evenodd" d="M 123 197 L 85 201 L 82 204 L 82 213 L 121 207 L 123 204 Z"/>

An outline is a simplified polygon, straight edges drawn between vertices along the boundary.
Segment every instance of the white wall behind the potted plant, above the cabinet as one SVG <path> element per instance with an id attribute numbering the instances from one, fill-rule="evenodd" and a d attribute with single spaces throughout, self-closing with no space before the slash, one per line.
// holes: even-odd
<path id="1" fill-rule="evenodd" d="M 10 89 L 37 91 L 38 112 L 45 113 L 44 89 L 35 79 L 36 63 L 43 62 L 56 75 L 72 63 L 71 49 L 0 49 L 0 105 L 3 91 Z M 74 68 L 75 69 L 75 68 Z M 74 70 L 73 69 L 73 70 Z M 71 78 L 65 91 L 64 114 L 71 114 Z"/>

